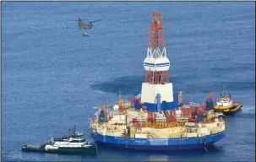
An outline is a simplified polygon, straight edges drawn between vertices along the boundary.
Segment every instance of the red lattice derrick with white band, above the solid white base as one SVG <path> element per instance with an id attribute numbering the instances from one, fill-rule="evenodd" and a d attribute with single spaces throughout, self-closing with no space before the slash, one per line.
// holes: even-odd
<path id="1" fill-rule="evenodd" d="M 166 41 L 161 13 L 154 12 L 150 22 L 149 45 L 147 57 L 144 60 L 145 79 L 150 84 L 165 84 L 169 82 L 170 61 L 166 57 Z"/>

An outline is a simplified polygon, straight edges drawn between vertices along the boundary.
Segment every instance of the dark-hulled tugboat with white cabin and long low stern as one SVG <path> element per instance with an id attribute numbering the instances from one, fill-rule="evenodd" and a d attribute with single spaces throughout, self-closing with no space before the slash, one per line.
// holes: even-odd
<path id="1" fill-rule="evenodd" d="M 84 134 L 76 132 L 75 127 L 68 136 L 51 138 L 47 143 L 41 145 L 24 145 L 23 152 L 56 153 L 56 154 L 92 154 L 97 153 L 94 142 L 85 142 Z"/>

